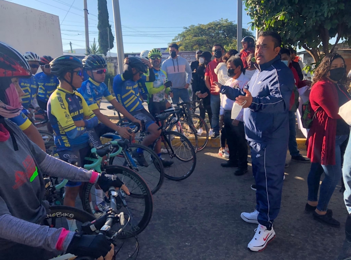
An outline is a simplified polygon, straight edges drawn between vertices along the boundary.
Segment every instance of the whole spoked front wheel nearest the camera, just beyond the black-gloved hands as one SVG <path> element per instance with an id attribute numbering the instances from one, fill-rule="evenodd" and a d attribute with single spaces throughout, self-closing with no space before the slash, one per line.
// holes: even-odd
<path id="1" fill-rule="evenodd" d="M 130 191 L 130 196 L 126 196 L 124 203 L 120 197 L 117 200 L 118 213 L 124 212 L 125 216 L 129 216 L 129 226 L 118 236 L 118 238 L 130 238 L 141 233 L 149 224 L 153 212 L 153 199 L 151 191 L 145 181 L 136 172 L 129 168 L 110 165 L 105 166 L 104 171 L 108 175 L 118 177 L 125 183 Z M 95 190 L 95 185 L 84 183 L 83 187 L 83 209 L 99 218 L 105 214 L 107 208 L 97 208 L 96 204 L 103 200 L 99 197 Z M 128 217 L 127 217 L 128 218 Z"/>

